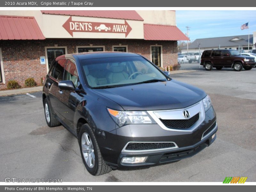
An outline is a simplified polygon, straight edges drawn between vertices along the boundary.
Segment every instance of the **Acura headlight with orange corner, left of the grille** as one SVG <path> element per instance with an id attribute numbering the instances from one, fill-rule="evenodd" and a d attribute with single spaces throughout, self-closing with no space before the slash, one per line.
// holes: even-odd
<path id="1" fill-rule="evenodd" d="M 116 111 L 109 108 L 107 109 L 108 113 L 119 127 L 126 124 L 156 124 L 146 111 Z"/>

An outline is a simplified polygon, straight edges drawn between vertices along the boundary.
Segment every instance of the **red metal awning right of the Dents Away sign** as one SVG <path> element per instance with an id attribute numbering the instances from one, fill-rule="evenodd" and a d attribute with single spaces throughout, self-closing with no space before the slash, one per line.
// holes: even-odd
<path id="1" fill-rule="evenodd" d="M 156 24 L 144 24 L 144 39 L 166 41 L 189 40 L 176 26 Z"/>

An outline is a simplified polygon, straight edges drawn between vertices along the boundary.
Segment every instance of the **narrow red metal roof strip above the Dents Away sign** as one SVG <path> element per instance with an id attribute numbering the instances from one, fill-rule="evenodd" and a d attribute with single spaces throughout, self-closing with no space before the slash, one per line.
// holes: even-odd
<path id="1" fill-rule="evenodd" d="M 132 10 L 104 10 L 104 11 L 95 11 L 95 10 L 68 10 L 68 11 L 41 11 L 43 14 L 54 14 L 54 15 L 70 15 L 70 16 L 83 16 L 83 17 L 100 17 L 100 18 L 111 18 L 111 19 L 126 19 L 126 20 L 139 20 L 143 21 L 142 17 Z"/>

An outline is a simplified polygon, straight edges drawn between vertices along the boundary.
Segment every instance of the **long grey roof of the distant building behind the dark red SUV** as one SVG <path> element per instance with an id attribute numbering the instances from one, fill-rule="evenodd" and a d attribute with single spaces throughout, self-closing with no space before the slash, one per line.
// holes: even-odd
<path id="1" fill-rule="evenodd" d="M 253 44 L 253 36 L 250 35 L 249 43 Z M 192 44 L 188 45 L 189 49 L 198 48 L 210 48 L 210 47 L 232 47 L 232 46 L 248 46 L 248 35 L 239 35 L 239 36 L 227 36 L 227 37 L 212 37 L 204 39 L 196 39 Z M 182 47 L 181 49 L 187 49 L 187 46 Z"/>

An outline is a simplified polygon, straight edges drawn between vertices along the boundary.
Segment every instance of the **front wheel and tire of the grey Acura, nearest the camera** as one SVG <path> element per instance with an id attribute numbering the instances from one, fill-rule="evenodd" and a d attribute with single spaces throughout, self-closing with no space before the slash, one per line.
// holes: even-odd
<path id="1" fill-rule="evenodd" d="M 92 175 L 103 175 L 112 170 L 112 168 L 105 163 L 103 157 L 101 156 L 100 148 L 95 135 L 88 124 L 82 125 L 78 142 L 84 166 L 89 173 Z"/>

